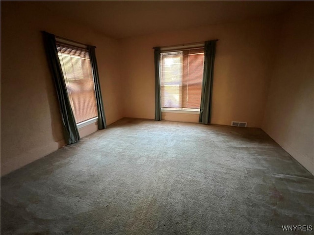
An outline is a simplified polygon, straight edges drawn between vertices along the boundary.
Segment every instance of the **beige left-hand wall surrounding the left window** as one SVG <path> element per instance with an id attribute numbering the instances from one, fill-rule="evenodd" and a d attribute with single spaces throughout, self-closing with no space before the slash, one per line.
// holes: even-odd
<path id="1" fill-rule="evenodd" d="M 1 175 L 64 145 L 41 30 L 97 47 L 107 123 L 123 117 L 117 41 L 36 5 L 1 1 Z"/>

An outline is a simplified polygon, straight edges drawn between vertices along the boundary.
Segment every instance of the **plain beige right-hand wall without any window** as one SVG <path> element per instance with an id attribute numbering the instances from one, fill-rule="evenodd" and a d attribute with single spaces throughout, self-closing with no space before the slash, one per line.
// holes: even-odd
<path id="1" fill-rule="evenodd" d="M 314 174 L 314 2 L 284 15 L 262 129 Z"/>

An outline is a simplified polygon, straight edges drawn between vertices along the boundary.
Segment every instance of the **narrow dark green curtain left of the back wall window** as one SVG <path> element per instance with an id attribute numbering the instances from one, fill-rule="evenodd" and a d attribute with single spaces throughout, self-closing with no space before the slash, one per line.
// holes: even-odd
<path id="1" fill-rule="evenodd" d="M 155 47 L 155 121 L 161 120 L 159 59 L 160 47 Z"/>

